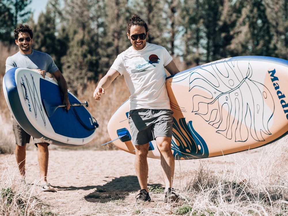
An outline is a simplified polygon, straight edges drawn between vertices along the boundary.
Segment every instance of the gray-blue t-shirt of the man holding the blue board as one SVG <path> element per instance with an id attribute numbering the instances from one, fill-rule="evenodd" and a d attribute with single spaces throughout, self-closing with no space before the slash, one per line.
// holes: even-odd
<path id="1" fill-rule="evenodd" d="M 58 70 L 54 60 L 47 53 L 32 50 L 31 54 L 17 52 L 6 59 L 5 73 L 14 67 L 24 67 L 28 69 L 41 69 L 45 73 L 54 73 Z"/>

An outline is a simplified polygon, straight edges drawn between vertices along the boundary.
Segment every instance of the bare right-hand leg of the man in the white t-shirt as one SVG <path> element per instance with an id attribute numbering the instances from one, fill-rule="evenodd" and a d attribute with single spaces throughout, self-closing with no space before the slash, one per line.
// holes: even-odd
<path id="1" fill-rule="evenodd" d="M 171 151 L 171 138 L 156 137 L 156 143 L 160 151 L 162 174 L 167 190 L 168 187 L 172 187 L 175 169 L 175 160 Z"/>

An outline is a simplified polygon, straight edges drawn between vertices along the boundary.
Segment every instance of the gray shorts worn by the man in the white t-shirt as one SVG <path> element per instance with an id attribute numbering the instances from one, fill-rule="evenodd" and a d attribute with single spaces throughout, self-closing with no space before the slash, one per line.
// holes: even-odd
<path id="1" fill-rule="evenodd" d="M 128 121 L 134 145 L 143 145 L 156 137 L 172 137 L 173 111 L 170 109 L 134 109 Z"/>

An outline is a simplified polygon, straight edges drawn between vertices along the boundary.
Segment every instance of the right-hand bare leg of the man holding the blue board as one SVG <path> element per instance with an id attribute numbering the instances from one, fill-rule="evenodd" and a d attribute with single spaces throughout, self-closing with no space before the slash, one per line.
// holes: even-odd
<path id="1" fill-rule="evenodd" d="M 40 183 L 47 183 L 47 173 L 48 173 L 48 159 L 49 151 L 47 143 L 37 143 L 38 147 L 38 163 L 40 170 Z M 53 188 L 51 186 L 45 186 L 47 188 Z"/>

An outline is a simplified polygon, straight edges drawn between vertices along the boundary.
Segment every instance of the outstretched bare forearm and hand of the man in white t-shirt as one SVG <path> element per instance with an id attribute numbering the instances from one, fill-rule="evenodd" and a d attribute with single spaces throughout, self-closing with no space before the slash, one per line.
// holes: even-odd
<path id="1" fill-rule="evenodd" d="M 117 76 L 119 76 L 120 73 L 118 71 L 116 71 L 115 69 L 109 69 L 109 71 L 107 72 L 107 74 L 100 79 L 94 93 L 93 93 L 93 97 L 97 100 L 100 101 L 101 98 L 101 93 L 105 94 L 105 89 L 107 89 L 110 84 L 112 83 L 112 81 L 114 79 L 116 79 Z"/>

